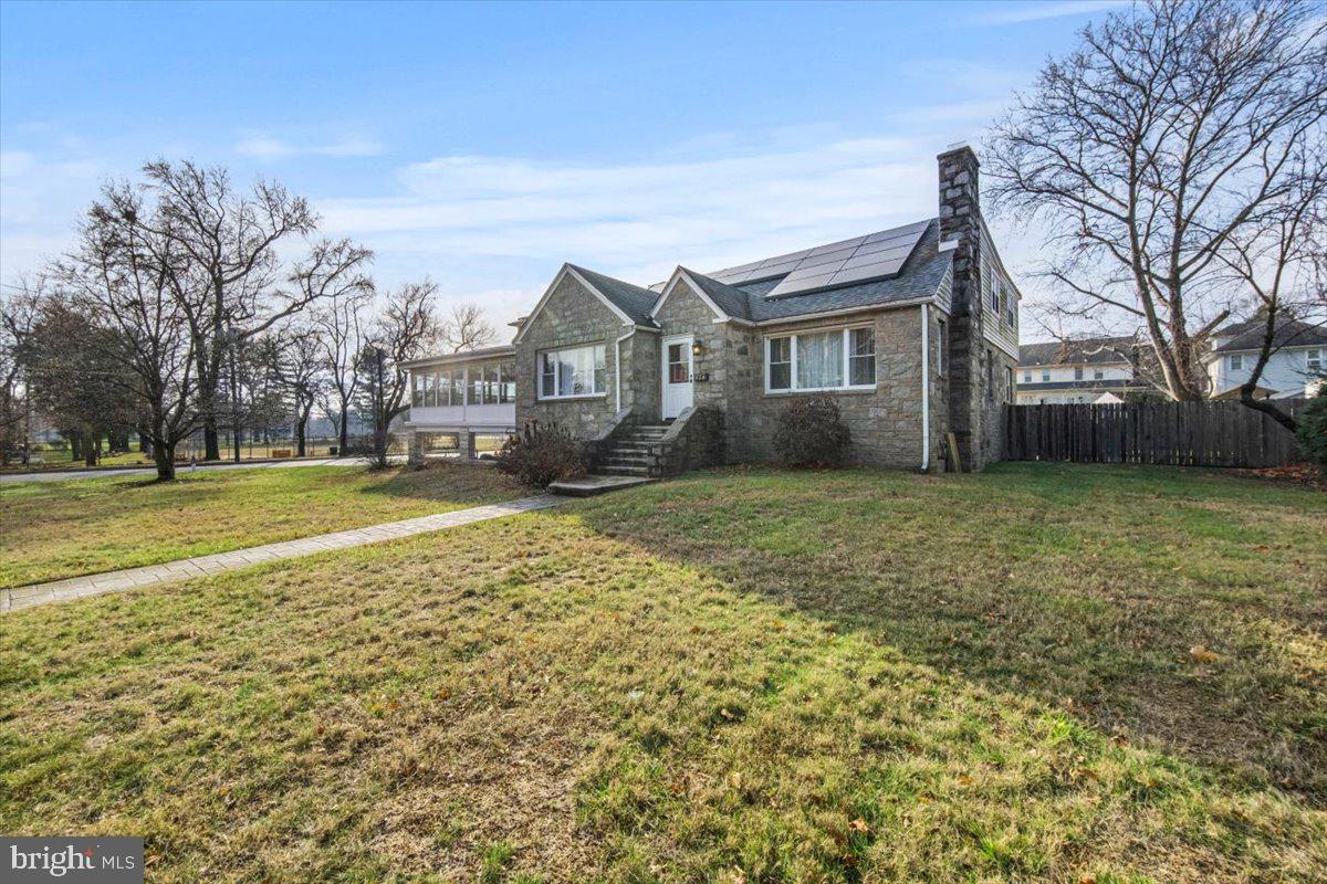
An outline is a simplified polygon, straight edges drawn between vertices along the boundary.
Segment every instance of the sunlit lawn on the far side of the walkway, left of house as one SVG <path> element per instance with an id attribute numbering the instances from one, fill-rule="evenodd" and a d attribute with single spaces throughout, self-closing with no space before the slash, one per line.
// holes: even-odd
<path id="1" fill-rule="evenodd" d="M 0 586 L 155 565 L 525 494 L 496 470 L 180 470 L 0 486 Z"/>

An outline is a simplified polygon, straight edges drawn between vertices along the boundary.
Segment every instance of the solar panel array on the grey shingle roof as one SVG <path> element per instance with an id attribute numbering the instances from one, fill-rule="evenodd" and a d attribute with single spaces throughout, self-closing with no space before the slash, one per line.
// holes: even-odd
<path id="1" fill-rule="evenodd" d="M 729 285 L 784 277 L 764 296 L 767 298 L 881 280 L 898 273 L 908 256 L 917 248 L 928 224 L 930 221 L 917 221 L 892 231 L 752 261 L 707 276 Z"/>

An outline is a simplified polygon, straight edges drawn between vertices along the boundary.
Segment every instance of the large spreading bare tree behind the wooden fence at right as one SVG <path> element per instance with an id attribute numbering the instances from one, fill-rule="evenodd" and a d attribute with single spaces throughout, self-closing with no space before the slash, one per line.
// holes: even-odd
<path id="1" fill-rule="evenodd" d="M 1241 241 L 1296 187 L 1327 114 L 1327 42 L 1295 0 L 1151 0 L 1083 29 L 995 129 L 995 204 L 1040 219 L 1072 317 L 1141 326 L 1162 388 L 1200 399 L 1246 286 Z M 1263 276 L 1275 256 L 1263 252 Z"/>

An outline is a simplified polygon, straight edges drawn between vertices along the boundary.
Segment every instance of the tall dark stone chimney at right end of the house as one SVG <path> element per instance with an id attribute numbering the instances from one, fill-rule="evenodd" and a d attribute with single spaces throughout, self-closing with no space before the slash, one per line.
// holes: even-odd
<path id="1" fill-rule="evenodd" d="M 949 322 L 949 428 L 963 469 L 981 469 L 983 420 L 982 227 L 977 154 L 950 144 L 940 164 L 940 243 L 954 253 Z M 953 469 L 954 465 L 950 464 Z"/>

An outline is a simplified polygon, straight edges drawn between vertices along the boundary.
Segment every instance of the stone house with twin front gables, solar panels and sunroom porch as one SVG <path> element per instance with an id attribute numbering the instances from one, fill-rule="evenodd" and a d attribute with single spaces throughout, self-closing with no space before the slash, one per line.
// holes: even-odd
<path id="1" fill-rule="evenodd" d="M 1001 457 L 1019 292 L 966 144 L 938 156 L 938 213 L 654 286 L 564 264 L 508 347 L 411 363 L 411 457 L 559 423 L 600 472 L 766 461 L 787 403 L 833 396 L 860 464 L 963 469 Z"/>

